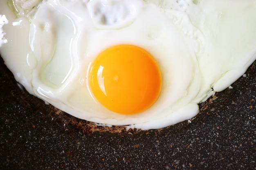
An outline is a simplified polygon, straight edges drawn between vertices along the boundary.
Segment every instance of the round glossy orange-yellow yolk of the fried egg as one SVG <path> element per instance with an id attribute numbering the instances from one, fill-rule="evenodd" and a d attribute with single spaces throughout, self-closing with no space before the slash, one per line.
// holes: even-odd
<path id="1" fill-rule="evenodd" d="M 132 45 L 112 46 L 92 63 L 89 84 L 94 97 L 121 114 L 139 113 L 157 100 L 162 76 L 155 59 Z"/>

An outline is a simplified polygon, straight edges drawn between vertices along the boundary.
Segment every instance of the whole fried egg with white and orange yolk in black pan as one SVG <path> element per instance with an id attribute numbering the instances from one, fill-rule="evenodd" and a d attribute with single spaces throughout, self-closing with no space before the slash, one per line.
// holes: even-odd
<path id="1" fill-rule="evenodd" d="M 256 59 L 255 0 L 2 0 L 0 15 L 16 81 L 102 125 L 191 119 Z"/>

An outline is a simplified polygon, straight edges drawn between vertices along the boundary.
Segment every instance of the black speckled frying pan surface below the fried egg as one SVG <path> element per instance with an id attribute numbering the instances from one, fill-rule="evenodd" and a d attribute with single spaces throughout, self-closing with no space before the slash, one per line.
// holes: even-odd
<path id="1" fill-rule="evenodd" d="M 200 114 L 163 129 L 103 127 L 28 94 L 0 58 L 0 169 L 256 169 L 256 64 Z"/>

